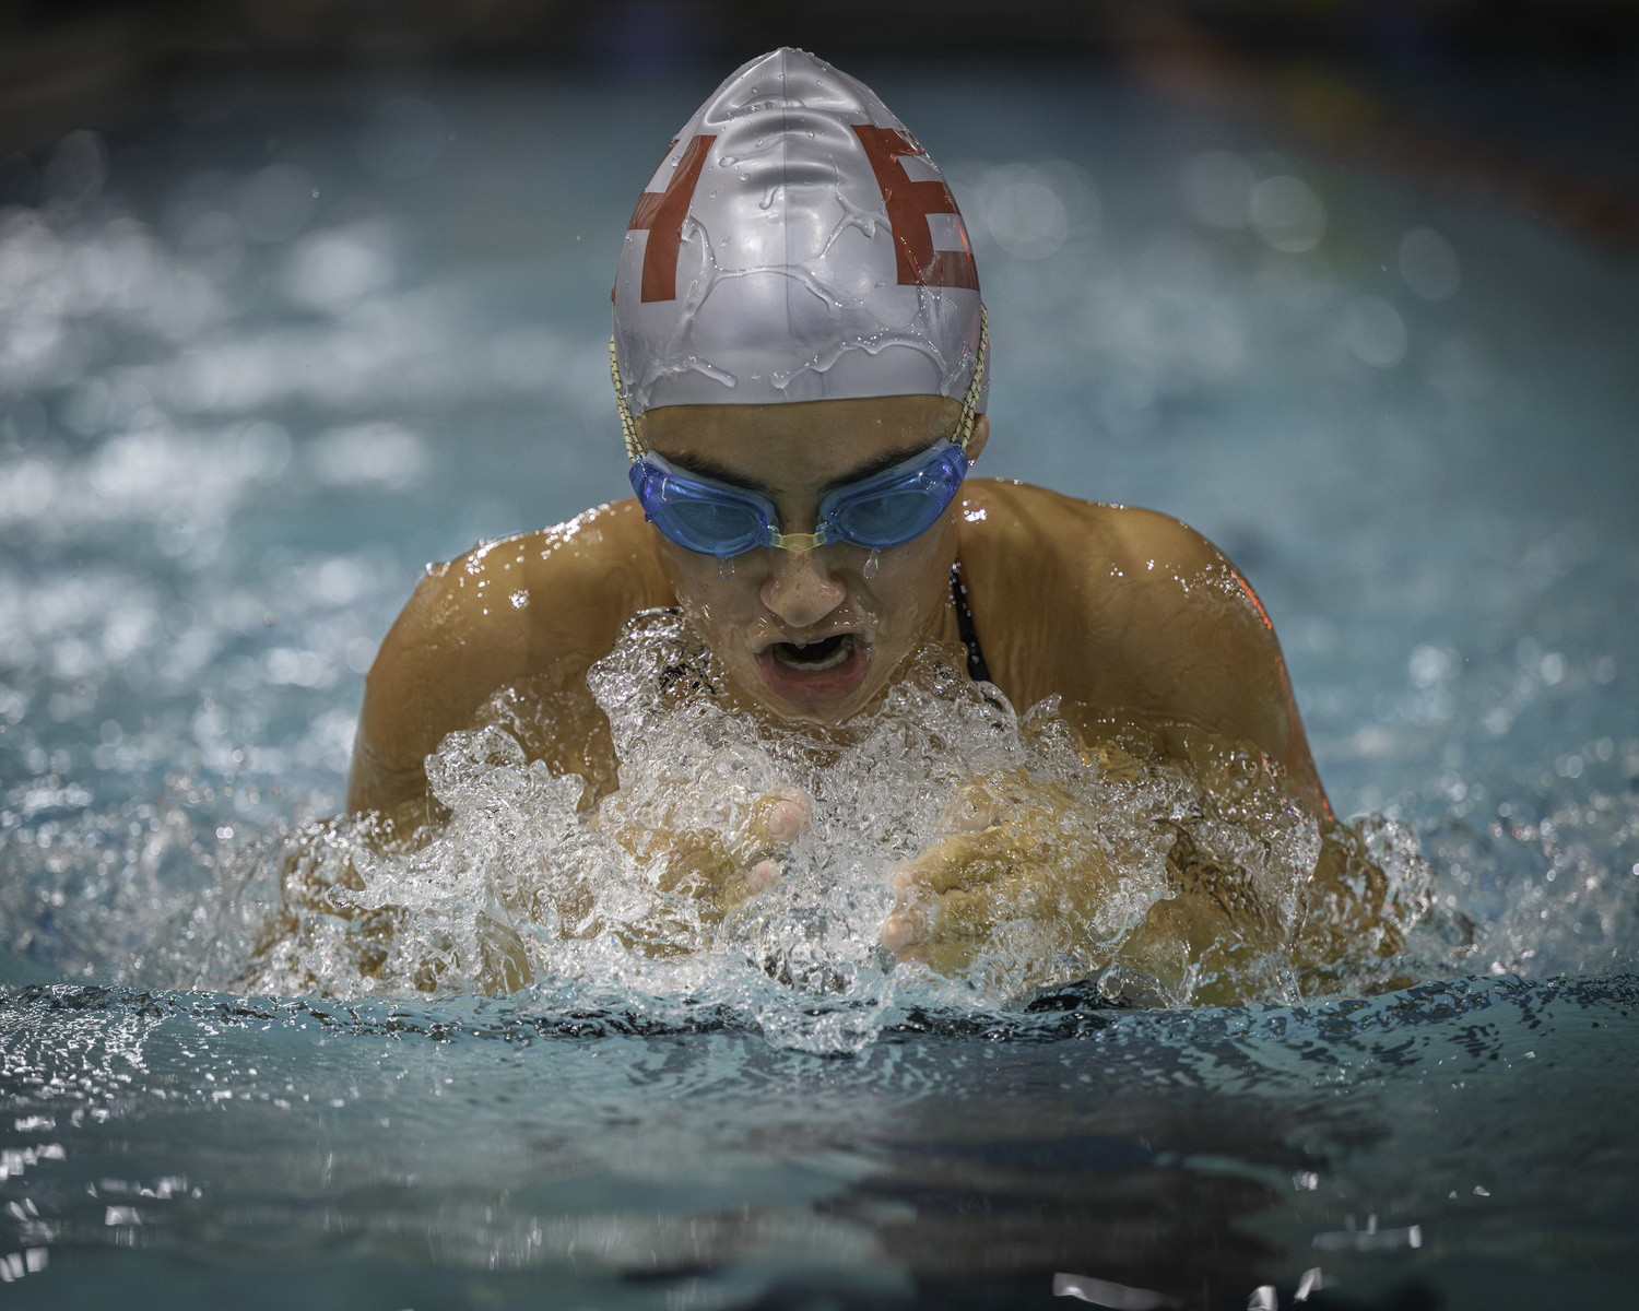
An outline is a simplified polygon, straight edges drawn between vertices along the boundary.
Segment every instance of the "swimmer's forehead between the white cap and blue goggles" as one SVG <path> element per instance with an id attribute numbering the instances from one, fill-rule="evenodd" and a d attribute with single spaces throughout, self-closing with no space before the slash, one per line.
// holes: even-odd
<path id="1" fill-rule="evenodd" d="M 642 415 L 638 434 L 667 459 L 693 456 L 747 482 L 805 487 L 947 438 L 960 411 L 947 397 L 667 405 Z"/>

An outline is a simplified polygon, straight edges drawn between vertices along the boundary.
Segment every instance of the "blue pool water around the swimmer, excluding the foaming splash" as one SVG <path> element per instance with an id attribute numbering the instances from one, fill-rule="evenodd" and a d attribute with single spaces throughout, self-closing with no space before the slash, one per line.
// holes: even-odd
<path id="1" fill-rule="evenodd" d="M 910 988 L 829 1055 L 652 977 L 188 973 L 338 810 L 423 564 L 624 495 L 606 288 L 711 77 L 184 95 L 0 216 L 8 1298 L 1623 1301 L 1639 269 L 1110 75 L 856 72 L 975 234 L 978 472 L 1219 542 L 1339 814 L 1410 826 L 1477 950 L 1364 1001 Z"/>

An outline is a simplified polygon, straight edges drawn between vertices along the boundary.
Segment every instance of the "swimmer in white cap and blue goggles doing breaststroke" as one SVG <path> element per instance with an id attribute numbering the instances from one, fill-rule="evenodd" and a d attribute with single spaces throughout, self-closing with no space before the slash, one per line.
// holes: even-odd
<path id="1" fill-rule="evenodd" d="M 1019 711 L 1062 698 L 1088 744 L 1137 733 L 1182 765 L 1203 741 L 1249 751 L 1341 841 L 1269 616 L 1211 542 L 969 475 L 992 436 L 972 247 L 938 166 L 860 82 L 795 49 L 733 74 L 638 198 L 613 323 L 634 497 L 429 569 L 369 674 L 349 810 L 403 834 L 436 821 L 425 759 L 524 685 L 552 711 L 531 752 L 583 775 L 587 805 L 610 798 L 587 670 L 634 615 L 675 608 L 746 714 L 823 733 L 923 644 L 962 644 L 974 680 Z M 1019 905 L 1052 814 L 1021 788 L 975 780 L 893 873 L 882 942 L 901 960 L 959 960 L 952 944 Z M 756 832 L 715 847 L 746 867 L 695 883 L 729 901 L 772 887 L 808 813 L 801 793 L 765 798 Z M 1336 891 L 1357 855 L 1337 847 L 1316 880 Z M 1233 898 L 1198 900 L 1152 916 L 1144 950 L 1205 950 Z"/>

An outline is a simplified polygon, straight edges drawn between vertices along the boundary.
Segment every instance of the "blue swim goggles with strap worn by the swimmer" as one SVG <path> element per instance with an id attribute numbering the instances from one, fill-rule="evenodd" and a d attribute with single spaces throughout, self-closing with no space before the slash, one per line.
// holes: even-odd
<path id="1" fill-rule="evenodd" d="M 956 439 L 941 438 L 892 469 L 828 492 L 820 501 L 820 523 L 813 533 L 782 533 L 779 513 L 767 497 L 690 474 L 664 456 L 644 451 L 626 405 L 611 339 L 610 370 L 626 434 L 626 454 L 631 459 L 628 474 L 644 518 L 685 551 L 718 559 L 729 559 L 759 546 L 813 551 L 828 542 L 851 542 L 867 551 L 887 551 L 919 538 L 956 500 L 970 467 L 967 442 L 974 436 L 975 406 L 990 344 L 983 308 L 978 323 L 974 379 L 962 401 Z"/>

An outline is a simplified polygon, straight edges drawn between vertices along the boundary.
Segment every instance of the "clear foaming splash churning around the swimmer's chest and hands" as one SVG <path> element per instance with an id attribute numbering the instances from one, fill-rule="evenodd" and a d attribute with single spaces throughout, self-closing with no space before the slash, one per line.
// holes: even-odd
<path id="1" fill-rule="evenodd" d="M 500 723 L 452 733 L 428 759 L 441 824 L 393 839 L 344 818 L 269 841 L 223 872 L 213 932 L 193 911 L 151 957 L 256 993 L 533 985 L 674 1018 L 716 1005 L 816 1050 L 857 1050 L 908 1008 L 1008 1008 L 1070 980 L 1096 978 L 1113 1005 L 1290 1001 L 1451 959 L 1428 926 L 1403 942 L 1429 919 L 1429 869 L 1401 826 L 1323 832 L 1262 757 L 1198 742 L 1178 767 L 1134 742 L 1085 747 L 1056 700 L 1019 718 L 960 669 L 959 647 L 924 647 L 874 713 L 816 737 L 736 713 L 680 618 L 638 616 L 588 677 L 618 792 L 587 806 L 583 778 L 529 760 Z M 767 854 L 751 821 L 792 787 L 813 823 L 780 852 L 779 885 L 747 896 Z M 890 875 L 987 800 L 1011 816 L 987 832 L 1011 826 L 1026 873 L 995 880 L 977 926 L 947 906 L 938 972 L 897 967 Z M 1187 895 L 1203 882 L 1213 896 Z M 1226 896 L 1236 916 L 1203 918 L 1196 903 Z M 1316 970 L 1318 955 L 1342 964 Z"/>

